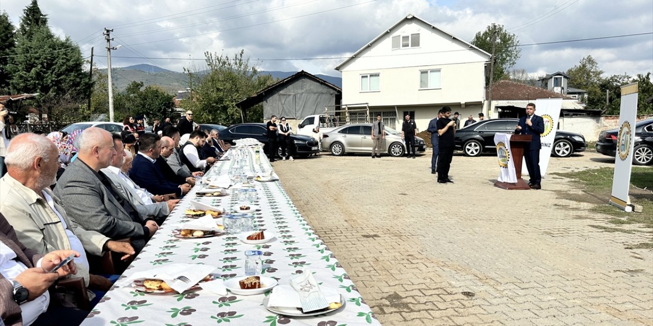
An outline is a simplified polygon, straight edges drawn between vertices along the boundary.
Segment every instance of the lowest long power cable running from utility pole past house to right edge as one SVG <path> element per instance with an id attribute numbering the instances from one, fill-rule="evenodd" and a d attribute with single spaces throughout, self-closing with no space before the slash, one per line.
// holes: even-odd
<path id="1" fill-rule="evenodd" d="M 579 38 L 576 40 L 560 40 L 560 41 L 551 41 L 551 42 L 537 42 L 530 44 L 519 44 L 517 46 L 504 46 L 503 48 L 517 48 L 521 46 L 535 46 L 535 45 L 547 45 L 547 44 L 558 44 L 558 43 L 569 43 L 569 42 L 582 42 L 588 40 L 604 40 L 608 38 L 622 38 L 622 37 L 635 37 L 641 35 L 651 35 L 653 32 L 646 33 L 635 33 L 635 34 L 626 34 L 626 35 L 613 35 L 609 37 L 593 37 L 593 38 Z M 422 54 L 432 54 L 432 53 L 445 53 L 445 52 L 462 52 L 462 51 L 474 51 L 476 49 L 461 49 L 461 50 L 445 50 L 445 51 L 434 51 L 434 52 L 421 52 L 421 53 L 402 53 L 402 54 L 388 54 L 388 55 L 368 55 L 366 57 L 395 57 L 399 55 L 422 55 Z M 96 57 L 106 57 L 106 55 L 95 55 Z M 123 59 L 157 59 L 157 60 L 190 60 L 190 61 L 205 61 L 206 59 L 197 59 L 197 58 L 174 58 L 174 57 L 128 57 L 128 56 L 118 56 L 112 55 L 114 58 L 123 58 Z M 310 57 L 310 58 L 269 58 L 269 59 L 258 59 L 260 61 L 306 61 L 306 60 L 331 60 L 331 59 L 348 59 L 351 55 L 345 57 Z M 229 59 L 232 60 L 232 59 Z"/>

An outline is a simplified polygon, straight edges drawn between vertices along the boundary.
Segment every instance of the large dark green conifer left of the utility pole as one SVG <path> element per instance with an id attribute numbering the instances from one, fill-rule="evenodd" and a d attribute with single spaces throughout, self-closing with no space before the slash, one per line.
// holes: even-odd
<path id="1" fill-rule="evenodd" d="M 79 47 L 53 35 L 47 22 L 37 1 L 25 8 L 7 70 L 12 92 L 39 93 L 31 104 L 52 119 L 53 109 L 77 110 L 86 102 L 90 84 Z"/>

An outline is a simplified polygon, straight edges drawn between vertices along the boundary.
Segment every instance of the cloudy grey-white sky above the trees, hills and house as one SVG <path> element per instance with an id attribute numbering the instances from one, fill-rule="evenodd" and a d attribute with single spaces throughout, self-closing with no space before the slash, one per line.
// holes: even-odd
<path id="1" fill-rule="evenodd" d="M 30 2 L 0 0 L 0 10 L 18 25 Z M 567 70 L 586 55 L 605 76 L 653 71 L 652 0 L 41 0 L 39 6 L 51 29 L 69 35 L 85 56 L 91 46 L 106 55 L 103 28 L 114 29 L 112 45 L 123 46 L 112 52 L 114 67 L 148 63 L 182 71 L 202 68 L 206 51 L 231 56 L 244 49 L 263 70 L 340 76 L 334 67 L 342 57 L 415 14 L 467 41 L 491 23 L 504 25 L 522 44 L 513 68 L 535 75 Z M 648 34 L 582 40 L 640 33 Z M 558 42 L 567 40 L 582 41 Z M 95 62 L 106 67 L 106 57 Z"/>

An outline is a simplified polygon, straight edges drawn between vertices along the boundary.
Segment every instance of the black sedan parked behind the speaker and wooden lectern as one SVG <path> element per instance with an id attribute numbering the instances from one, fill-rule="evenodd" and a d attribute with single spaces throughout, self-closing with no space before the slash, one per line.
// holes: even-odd
<path id="1" fill-rule="evenodd" d="M 479 121 L 473 125 L 456 130 L 456 149 L 462 149 L 465 156 L 479 156 L 484 151 L 496 151 L 494 134 L 512 134 L 519 119 L 503 118 Z M 585 151 L 585 138 L 581 134 L 557 130 L 551 155 L 567 157 L 572 153 Z"/>

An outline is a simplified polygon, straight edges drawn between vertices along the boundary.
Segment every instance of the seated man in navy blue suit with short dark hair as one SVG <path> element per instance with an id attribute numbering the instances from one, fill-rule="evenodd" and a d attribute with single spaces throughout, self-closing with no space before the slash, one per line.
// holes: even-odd
<path id="1" fill-rule="evenodd" d="M 134 157 L 129 177 L 136 185 L 155 195 L 176 194 L 178 198 L 191 189 L 187 183 L 172 183 L 165 179 L 156 161 L 161 156 L 161 138 L 155 134 L 140 136 L 138 155 Z"/>

